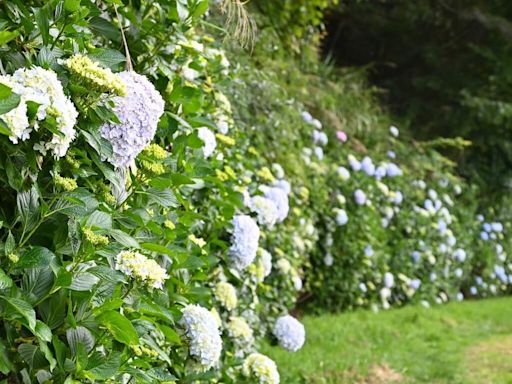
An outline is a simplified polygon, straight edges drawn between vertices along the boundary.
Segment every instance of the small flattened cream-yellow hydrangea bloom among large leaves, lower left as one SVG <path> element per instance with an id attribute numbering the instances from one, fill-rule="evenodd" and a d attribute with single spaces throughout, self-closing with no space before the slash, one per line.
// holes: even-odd
<path id="1" fill-rule="evenodd" d="M 158 289 L 162 289 L 165 280 L 169 278 L 166 270 L 155 260 L 148 259 L 139 252 L 119 252 L 115 260 L 115 269 Z"/>

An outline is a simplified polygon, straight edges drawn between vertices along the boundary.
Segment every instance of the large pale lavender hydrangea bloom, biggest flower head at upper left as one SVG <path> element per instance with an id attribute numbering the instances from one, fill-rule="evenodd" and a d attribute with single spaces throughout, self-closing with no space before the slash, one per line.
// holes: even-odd
<path id="1" fill-rule="evenodd" d="M 164 101 L 153 84 L 132 71 L 118 74 L 126 84 L 126 96 L 114 97 L 114 112 L 120 123 L 101 126 L 101 135 L 112 145 L 108 159 L 116 168 L 129 166 L 155 136 L 164 113 Z"/>

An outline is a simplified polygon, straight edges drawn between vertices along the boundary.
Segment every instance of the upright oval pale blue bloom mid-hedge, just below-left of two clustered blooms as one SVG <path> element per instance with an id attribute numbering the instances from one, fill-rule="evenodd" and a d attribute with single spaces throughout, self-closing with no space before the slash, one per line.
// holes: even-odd
<path id="1" fill-rule="evenodd" d="M 236 269 L 244 270 L 256 257 L 260 229 L 256 222 L 247 215 L 235 216 L 233 218 L 233 227 L 229 256 Z"/>

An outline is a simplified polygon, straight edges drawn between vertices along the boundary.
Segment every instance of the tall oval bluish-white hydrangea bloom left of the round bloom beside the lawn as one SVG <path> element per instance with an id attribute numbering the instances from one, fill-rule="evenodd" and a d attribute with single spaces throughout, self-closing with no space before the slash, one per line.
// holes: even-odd
<path id="1" fill-rule="evenodd" d="M 217 365 L 222 351 L 222 339 L 215 316 L 200 305 L 189 304 L 183 308 L 181 324 L 190 341 L 190 355 L 204 370 Z"/>

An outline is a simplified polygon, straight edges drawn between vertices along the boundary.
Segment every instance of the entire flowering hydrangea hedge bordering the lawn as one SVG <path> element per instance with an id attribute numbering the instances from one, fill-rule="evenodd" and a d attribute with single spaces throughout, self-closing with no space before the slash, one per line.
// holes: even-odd
<path id="1" fill-rule="evenodd" d="M 1 5 L 5 382 L 276 383 L 258 344 L 301 347 L 299 296 L 386 308 L 506 289 L 502 231 L 474 239 L 470 188 L 389 136 L 359 74 L 300 67 L 265 32 L 228 60 L 217 17 L 203 0 Z M 363 154 L 403 175 L 340 177 Z M 416 212 L 427 195 L 450 214 Z M 439 254 L 451 234 L 465 260 Z"/>

